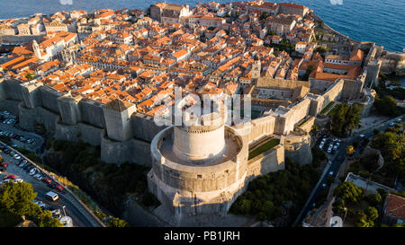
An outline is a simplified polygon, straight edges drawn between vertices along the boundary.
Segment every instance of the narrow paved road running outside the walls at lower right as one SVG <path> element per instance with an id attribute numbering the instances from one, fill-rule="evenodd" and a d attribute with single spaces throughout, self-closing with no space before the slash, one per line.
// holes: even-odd
<path id="1" fill-rule="evenodd" d="M 402 118 L 405 115 L 401 115 L 398 118 Z M 385 121 L 379 125 L 375 125 L 374 127 L 369 127 L 366 128 L 363 131 L 358 132 L 355 136 L 348 137 L 345 142 L 343 142 L 340 146 L 340 150 L 335 153 L 334 155 L 329 155 L 329 164 L 325 168 L 325 171 L 323 171 L 320 180 L 318 184 L 315 186 L 315 188 L 312 190 L 312 193 L 310 197 L 308 198 L 307 202 L 302 208 L 301 213 L 297 216 L 297 219 L 294 221 L 293 226 L 296 226 L 298 223 L 302 222 L 302 219 L 304 218 L 305 214 L 308 214 L 308 212 L 313 208 L 313 203 L 316 203 L 318 198 L 322 195 L 324 188 L 322 187 L 322 183 L 327 183 L 327 179 L 329 176 L 333 176 L 334 178 L 336 177 L 336 174 L 338 173 L 340 166 L 342 165 L 342 162 L 345 161 L 346 158 L 346 147 L 348 145 L 352 145 L 354 142 L 360 142 L 363 138 L 369 138 L 371 136 L 374 136 L 374 129 L 380 129 L 380 130 L 385 130 L 388 127 L 391 127 L 390 124 L 392 122 L 396 122 L 398 118 L 392 118 L 388 121 Z M 364 135 L 363 137 L 360 137 L 360 135 Z M 359 144 L 361 145 L 361 144 Z M 364 145 L 363 145 L 364 146 Z M 318 147 L 318 144 L 315 145 L 315 147 Z M 361 149 L 356 149 L 356 153 L 354 153 L 354 156 L 358 155 Z M 333 171 L 332 175 L 329 175 L 329 172 Z"/>

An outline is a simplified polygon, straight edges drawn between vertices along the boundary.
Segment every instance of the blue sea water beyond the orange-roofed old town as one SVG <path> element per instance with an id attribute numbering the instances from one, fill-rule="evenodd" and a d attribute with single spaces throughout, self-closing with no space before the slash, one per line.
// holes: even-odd
<path id="1" fill-rule="evenodd" d="M 166 2 L 193 6 L 200 1 L 211 0 Z M 233 1 L 235 0 L 216 2 Z M 273 2 L 292 2 L 309 6 L 330 27 L 352 39 L 374 41 L 390 51 L 401 52 L 405 48 L 405 0 L 274 0 Z M 0 0 L 0 19 L 23 17 L 33 13 L 55 13 L 61 10 L 146 9 L 154 3 L 155 1 L 145 0 Z"/>

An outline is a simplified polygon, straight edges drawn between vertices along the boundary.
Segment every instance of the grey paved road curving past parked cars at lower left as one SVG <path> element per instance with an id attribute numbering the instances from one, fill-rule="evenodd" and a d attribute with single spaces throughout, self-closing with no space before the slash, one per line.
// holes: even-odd
<path id="1" fill-rule="evenodd" d="M 7 167 L 7 171 L 2 173 L 0 176 L 3 179 L 5 175 L 14 174 L 16 178 L 24 179 L 25 182 L 29 182 L 32 185 L 32 188 L 35 192 L 38 193 L 37 199 L 43 201 L 45 204 L 49 206 L 54 206 L 59 208 L 62 212 L 62 206 L 66 206 L 65 211 L 67 216 L 70 216 L 73 220 L 73 225 L 78 227 L 101 227 L 103 226 L 98 220 L 94 218 L 93 214 L 89 214 L 89 211 L 76 200 L 75 197 L 69 192 L 59 193 L 55 189 L 49 188 L 44 182 L 34 179 L 30 176 L 26 171 L 19 168 L 15 164 L 15 160 L 9 156 L 8 154 L 1 153 L 4 158 L 4 162 L 9 162 L 9 166 Z M 48 199 L 45 198 L 45 194 L 48 191 L 54 191 L 58 193 L 59 199 L 55 202 L 49 202 Z"/>

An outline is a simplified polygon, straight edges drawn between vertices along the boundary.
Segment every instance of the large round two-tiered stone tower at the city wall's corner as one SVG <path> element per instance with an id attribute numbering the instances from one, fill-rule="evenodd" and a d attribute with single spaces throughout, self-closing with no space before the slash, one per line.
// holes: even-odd
<path id="1" fill-rule="evenodd" d="M 187 112 L 185 101 L 176 105 L 182 123 L 167 127 L 151 144 L 152 169 L 148 188 L 163 204 L 172 225 L 199 217 L 227 214 L 244 191 L 247 144 L 225 125 L 221 102 L 200 115 Z"/>

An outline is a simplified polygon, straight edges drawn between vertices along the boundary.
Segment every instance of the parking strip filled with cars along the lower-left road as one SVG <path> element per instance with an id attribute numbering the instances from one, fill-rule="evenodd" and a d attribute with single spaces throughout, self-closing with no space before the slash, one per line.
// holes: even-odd
<path id="1" fill-rule="evenodd" d="M 63 198 L 67 192 L 62 186 L 56 184 L 53 179 L 49 179 L 31 162 L 18 153 L 14 153 L 4 144 L 0 144 L 0 151 L 4 159 L 4 162 L 0 164 L 0 184 L 9 181 L 31 183 L 34 191 L 38 193 L 34 203 L 38 204 L 41 210 L 49 210 L 55 218 L 58 218 L 67 227 L 80 224 L 71 218 L 73 214 L 67 208 Z M 52 199 L 51 196 L 54 198 Z"/>

